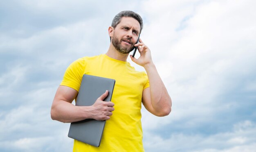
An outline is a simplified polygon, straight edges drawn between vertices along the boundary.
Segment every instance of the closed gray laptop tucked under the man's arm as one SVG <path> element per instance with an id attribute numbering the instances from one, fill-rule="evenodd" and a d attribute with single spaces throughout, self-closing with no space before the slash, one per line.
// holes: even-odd
<path id="1" fill-rule="evenodd" d="M 76 106 L 91 106 L 106 90 L 108 96 L 104 101 L 111 101 L 114 86 L 114 79 L 84 74 L 76 98 Z M 72 122 L 68 137 L 99 147 L 105 123 L 106 120 L 95 119 Z"/>

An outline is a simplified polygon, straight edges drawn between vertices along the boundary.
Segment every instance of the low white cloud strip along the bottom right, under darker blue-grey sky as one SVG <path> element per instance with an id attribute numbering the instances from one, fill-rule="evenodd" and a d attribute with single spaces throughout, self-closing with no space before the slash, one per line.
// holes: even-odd
<path id="1" fill-rule="evenodd" d="M 228 132 L 213 135 L 174 133 L 167 139 L 147 132 L 144 146 L 148 152 L 251 152 L 256 148 L 255 127 L 256 124 L 246 120 L 235 124 Z"/>

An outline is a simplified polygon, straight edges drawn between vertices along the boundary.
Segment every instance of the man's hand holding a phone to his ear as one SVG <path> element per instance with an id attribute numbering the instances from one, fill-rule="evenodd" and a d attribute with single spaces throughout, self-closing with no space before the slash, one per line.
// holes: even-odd
<path id="1" fill-rule="evenodd" d="M 136 59 L 135 57 L 130 55 L 130 58 L 132 59 L 133 62 L 135 62 L 138 65 L 141 65 L 142 67 L 153 64 L 151 52 L 141 39 L 139 39 L 139 43 L 136 43 L 134 46 L 138 48 L 140 56 L 138 59 Z"/>

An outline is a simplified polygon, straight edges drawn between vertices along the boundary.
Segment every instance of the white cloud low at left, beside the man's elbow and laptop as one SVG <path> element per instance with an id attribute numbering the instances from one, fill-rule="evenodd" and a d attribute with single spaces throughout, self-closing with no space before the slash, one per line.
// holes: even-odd
<path id="1" fill-rule="evenodd" d="M 53 121 L 50 117 L 57 84 L 53 88 L 43 86 L 43 89 L 29 91 L 21 98 L 16 98 L 16 103 L 20 105 L 17 108 L 1 111 L 1 150 L 72 150 L 73 139 L 67 137 L 70 124 Z"/>

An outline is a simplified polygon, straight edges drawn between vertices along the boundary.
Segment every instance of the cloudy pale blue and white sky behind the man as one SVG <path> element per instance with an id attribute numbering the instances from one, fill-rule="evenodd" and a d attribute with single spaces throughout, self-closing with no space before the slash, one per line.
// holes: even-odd
<path id="1" fill-rule="evenodd" d="M 70 124 L 50 117 L 52 100 L 70 63 L 106 53 L 108 27 L 123 10 L 144 20 L 141 39 L 173 102 L 166 117 L 141 109 L 145 151 L 254 151 L 255 6 L 254 0 L 1 0 L 0 151 L 72 151 Z"/>

